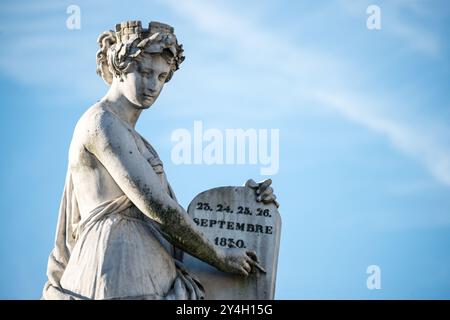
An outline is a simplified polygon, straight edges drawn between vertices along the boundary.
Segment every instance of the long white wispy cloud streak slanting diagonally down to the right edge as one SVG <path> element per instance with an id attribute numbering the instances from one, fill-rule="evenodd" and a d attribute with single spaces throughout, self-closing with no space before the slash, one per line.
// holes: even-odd
<path id="1" fill-rule="evenodd" d="M 286 84 L 298 85 L 299 92 L 304 97 L 385 137 L 397 150 L 419 161 L 439 182 L 450 186 L 448 146 L 440 144 L 438 139 L 424 135 L 407 122 L 394 119 L 386 112 L 389 105 L 377 105 L 374 103 L 377 99 L 370 94 L 357 98 L 352 90 L 348 89 L 351 88 L 349 79 L 353 79 L 349 75 L 357 75 L 351 70 L 351 66 L 345 66 L 343 72 L 341 61 L 334 61 L 320 51 L 293 45 L 290 39 L 274 33 L 257 21 L 241 17 L 238 12 L 230 10 L 223 3 L 215 5 L 199 1 L 167 3 L 172 10 L 188 18 L 205 34 L 216 40 L 233 43 L 231 50 L 234 50 L 237 60 L 242 59 L 242 52 L 252 50 L 259 55 L 252 56 L 249 62 L 267 69 L 268 64 L 264 57 L 282 56 L 286 63 L 271 70 L 274 77 L 278 77 L 280 81 L 289 79 L 289 83 Z M 413 27 L 402 28 L 397 31 L 403 32 L 405 37 L 417 36 L 412 31 Z M 416 43 L 416 40 L 412 41 Z M 437 47 L 428 43 L 422 49 L 435 52 Z M 314 74 L 333 75 L 333 79 L 327 82 L 324 79 L 314 79 L 312 76 L 305 78 L 305 75 Z"/>

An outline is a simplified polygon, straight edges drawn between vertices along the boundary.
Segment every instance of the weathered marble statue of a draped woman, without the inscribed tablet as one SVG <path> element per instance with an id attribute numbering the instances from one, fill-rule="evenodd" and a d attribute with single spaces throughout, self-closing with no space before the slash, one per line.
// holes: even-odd
<path id="1" fill-rule="evenodd" d="M 174 29 L 127 21 L 98 43 L 97 73 L 110 87 L 74 130 L 43 299 L 201 299 L 183 252 L 248 276 L 255 252 L 219 248 L 205 237 L 135 130 L 184 60 Z M 276 203 L 269 184 L 248 182 L 258 201 Z"/>

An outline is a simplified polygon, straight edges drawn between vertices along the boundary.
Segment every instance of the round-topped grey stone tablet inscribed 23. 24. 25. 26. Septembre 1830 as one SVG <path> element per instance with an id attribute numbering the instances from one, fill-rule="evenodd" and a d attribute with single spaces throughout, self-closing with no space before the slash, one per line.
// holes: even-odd
<path id="1" fill-rule="evenodd" d="M 224 273 L 185 253 L 185 266 L 202 282 L 206 299 L 273 299 L 281 233 L 277 207 L 257 202 L 254 189 L 220 187 L 197 195 L 188 213 L 216 246 L 256 251 L 267 272 L 256 270 L 248 277 Z"/>

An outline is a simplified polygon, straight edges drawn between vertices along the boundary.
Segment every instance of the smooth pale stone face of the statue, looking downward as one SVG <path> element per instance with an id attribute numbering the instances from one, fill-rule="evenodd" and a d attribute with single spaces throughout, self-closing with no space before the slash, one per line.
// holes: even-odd
<path id="1" fill-rule="evenodd" d="M 149 108 L 158 98 L 171 66 L 160 54 L 144 54 L 123 77 L 122 93 L 140 109 Z"/>

